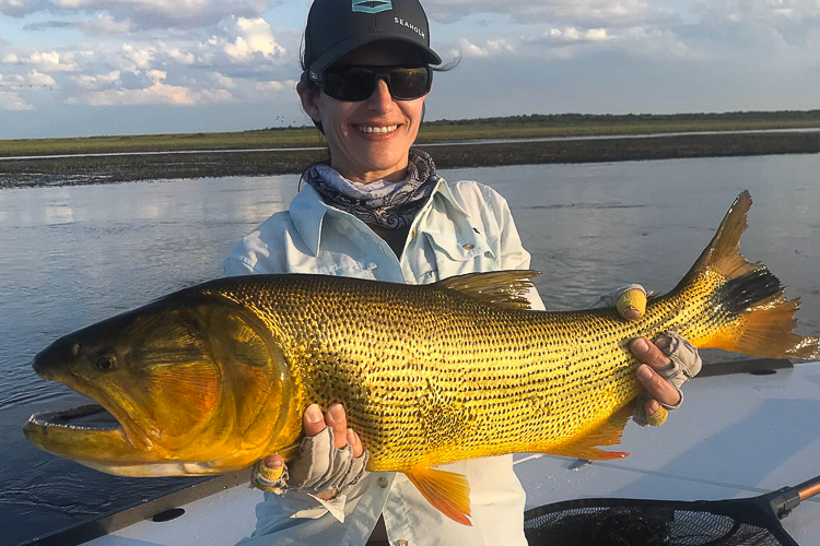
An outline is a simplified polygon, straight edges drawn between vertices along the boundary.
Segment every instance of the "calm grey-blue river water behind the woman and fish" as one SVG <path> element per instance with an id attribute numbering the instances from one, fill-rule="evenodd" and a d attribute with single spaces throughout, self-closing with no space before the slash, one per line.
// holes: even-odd
<path id="1" fill-rule="evenodd" d="M 799 331 L 820 335 L 820 155 L 443 175 L 507 198 L 550 309 L 630 282 L 671 288 L 748 188 L 745 253 L 803 297 Z M 294 176 L 0 191 L 0 544 L 190 483 L 115 478 L 30 447 L 31 413 L 83 402 L 30 363 L 59 335 L 219 276 L 236 240 L 295 192 Z"/>

